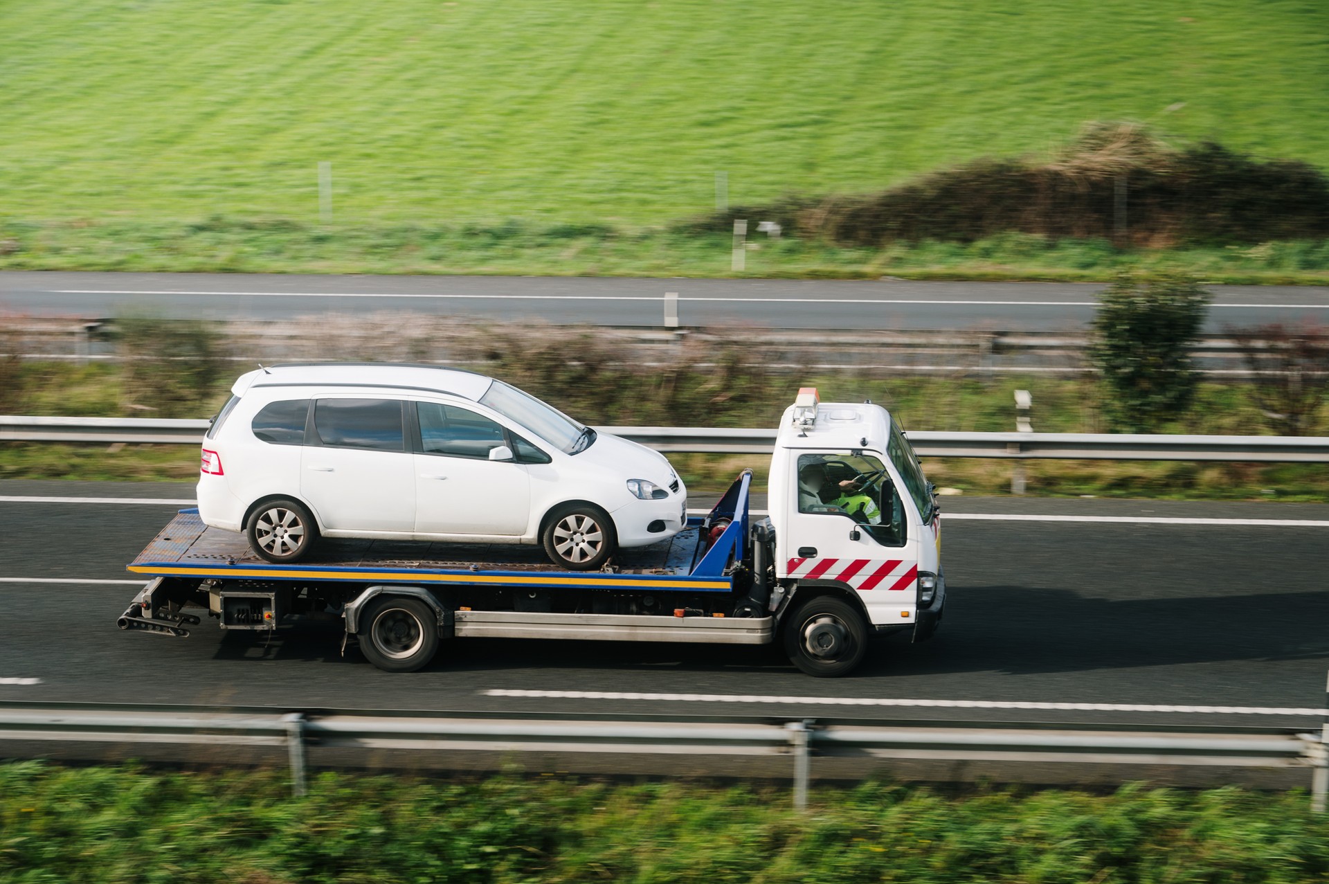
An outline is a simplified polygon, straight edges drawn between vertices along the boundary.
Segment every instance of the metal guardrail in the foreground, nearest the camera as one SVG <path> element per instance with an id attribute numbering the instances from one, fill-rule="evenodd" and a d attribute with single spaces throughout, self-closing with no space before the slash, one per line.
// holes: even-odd
<path id="1" fill-rule="evenodd" d="M 130 705 L 0 705 L 0 740 L 286 747 L 291 783 L 304 792 L 308 747 L 455 752 L 590 752 L 613 771 L 625 755 L 771 756 L 792 760 L 797 807 L 807 806 L 817 758 L 1009 760 L 1313 768 L 1312 803 L 1325 807 L 1329 727 L 1219 730 L 1110 724 L 861 722 L 777 719 L 571 719 L 476 713 L 287 711 Z M 11 750 L 7 750 L 11 751 Z M 352 756 L 355 754 L 352 752 Z M 668 770 L 670 766 L 662 766 Z"/>

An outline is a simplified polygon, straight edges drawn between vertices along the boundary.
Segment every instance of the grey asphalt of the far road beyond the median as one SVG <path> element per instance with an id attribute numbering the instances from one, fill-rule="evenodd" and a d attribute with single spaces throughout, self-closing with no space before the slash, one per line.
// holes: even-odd
<path id="1" fill-rule="evenodd" d="M 683 326 L 1070 331 L 1092 316 L 1100 288 L 1095 283 L 8 271 L 0 273 L 0 314 L 290 319 L 409 310 L 658 327 L 664 294 L 672 291 Z M 1329 320 L 1325 287 L 1213 286 L 1212 291 L 1212 332 Z"/>

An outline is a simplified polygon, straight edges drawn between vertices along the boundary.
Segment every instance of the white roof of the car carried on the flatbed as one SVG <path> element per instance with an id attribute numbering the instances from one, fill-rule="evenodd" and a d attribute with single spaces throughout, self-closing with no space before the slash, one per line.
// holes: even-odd
<path id="1" fill-rule="evenodd" d="M 493 378 L 464 368 L 376 362 L 283 363 L 242 375 L 231 392 L 242 396 L 250 387 L 385 387 L 451 393 L 478 400 Z"/>

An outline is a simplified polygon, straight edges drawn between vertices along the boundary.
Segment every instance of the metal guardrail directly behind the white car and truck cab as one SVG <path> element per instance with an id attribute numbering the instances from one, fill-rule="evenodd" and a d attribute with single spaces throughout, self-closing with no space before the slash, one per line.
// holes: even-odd
<path id="1" fill-rule="evenodd" d="M 197 445 L 206 420 L 150 417 L 25 417 L 0 415 L 0 441 L 152 443 Z M 775 429 L 597 427 L 662 452 L 769 455 Z M 1174 436 L 1150 433 L 912 432 L 924 457 L 1062 460 L 1217 460 L 1329 463 L 1329 436 Z"/>

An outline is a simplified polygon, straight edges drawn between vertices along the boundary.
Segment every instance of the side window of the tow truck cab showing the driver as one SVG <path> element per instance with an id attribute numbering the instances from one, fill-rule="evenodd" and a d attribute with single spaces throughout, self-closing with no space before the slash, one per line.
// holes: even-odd
<path id="1" fill-rule="evenodd" d="M 886 468 L 863 455 L 799 455 L 799 512 L 841 516 L 884 546 L 901 546 L 904 504 Z"/>

